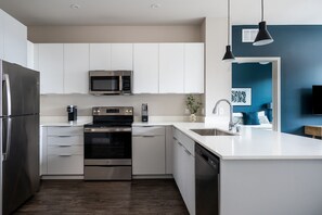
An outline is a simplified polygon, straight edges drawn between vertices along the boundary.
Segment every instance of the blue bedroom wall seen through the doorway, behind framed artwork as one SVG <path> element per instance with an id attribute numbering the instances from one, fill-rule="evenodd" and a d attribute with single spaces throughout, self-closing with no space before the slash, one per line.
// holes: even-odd
<path id="1" fill-rule="evenodd" d="M 234 105 L 234 112 L 266 111 L 266 104 L 272 102 L 272 64 L 233 63 L 232 87 L 252 88 L 252 105 Z"/>

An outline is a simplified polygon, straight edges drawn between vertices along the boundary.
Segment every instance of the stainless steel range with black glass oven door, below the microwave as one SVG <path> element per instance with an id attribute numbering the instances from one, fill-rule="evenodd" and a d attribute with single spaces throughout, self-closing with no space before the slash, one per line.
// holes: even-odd
<path id="1" fill-rule="evenodd" d="M 131 180 L 133 108 L 98 106 L 92 115 L 83 126 L 85 180 Z"/>

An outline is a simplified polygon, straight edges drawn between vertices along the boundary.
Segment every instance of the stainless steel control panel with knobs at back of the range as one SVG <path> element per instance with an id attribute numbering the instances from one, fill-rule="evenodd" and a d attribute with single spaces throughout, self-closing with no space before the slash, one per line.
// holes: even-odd
<path id="1" fill-rule="evenodd" d="M 93 116 L 133 115 L 132 106 L 94 106 Z"/>

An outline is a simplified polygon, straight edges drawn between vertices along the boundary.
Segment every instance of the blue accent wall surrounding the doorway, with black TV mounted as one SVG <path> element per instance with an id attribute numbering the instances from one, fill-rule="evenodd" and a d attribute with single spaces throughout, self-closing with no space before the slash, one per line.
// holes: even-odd
<path id="1" fill-rule="evenodd" d="M 243 43 L 243 28 L 257 26 L 233 26 L 236 56 L 281 56 L 282 131 L 304 135 L 305 125 L 322 125 L 311 111 L 312 85 L 322 85 L 322 26 L 268 26 L 274 42 L 262 47 Z"/>

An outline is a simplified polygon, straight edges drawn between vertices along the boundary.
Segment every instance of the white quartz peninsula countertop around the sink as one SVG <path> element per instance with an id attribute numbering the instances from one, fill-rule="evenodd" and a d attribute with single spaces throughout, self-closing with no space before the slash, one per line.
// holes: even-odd
<path id="1" fill-rule="evenodd" d="M 222 160 L 322 160 L 322 140 L 242 127 L 237 136 L 199 136 L 191 129 L 220 128 L 227 124 L 175 123 L 183 134 Z"/>

